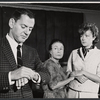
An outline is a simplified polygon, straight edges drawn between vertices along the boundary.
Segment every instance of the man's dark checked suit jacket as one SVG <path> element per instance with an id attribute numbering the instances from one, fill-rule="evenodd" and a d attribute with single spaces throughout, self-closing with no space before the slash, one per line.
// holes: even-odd
<path id="1" fill-rule="evenodd" d="M 49 82 L 50 75 L 46 68 L 42 67 L 38 53 L 34 48 L 22 46 L 23 66 L 36 70 L 41 76 L 41 83 Z M 9 85 L 8 73 L 17 69 L 15 58 L 8 40 L 4 37 L 0 40 L 0 98 L 33 98 L 33 82 L 29 81 L 21 89 L 14 91 L 14 86 Z"/>

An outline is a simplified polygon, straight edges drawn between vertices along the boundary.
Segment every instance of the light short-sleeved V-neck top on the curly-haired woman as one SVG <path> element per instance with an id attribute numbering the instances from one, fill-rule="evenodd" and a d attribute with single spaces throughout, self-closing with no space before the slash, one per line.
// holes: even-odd
<path id="1" fill-rule="evenodd" d="M 68 59 L 67 71 L 72 72 L 81 69 L 100 77 L 100 50 L 97 49 L 97 47 L 89 50 L 85 58 L 82 48 L 72 51 Z M 81 84 L 77 80 L 73 80 L 69 83 L 69 87 L 77 91 L 98 93 L 99 83 L 95 83 L 88 79 Z"/>

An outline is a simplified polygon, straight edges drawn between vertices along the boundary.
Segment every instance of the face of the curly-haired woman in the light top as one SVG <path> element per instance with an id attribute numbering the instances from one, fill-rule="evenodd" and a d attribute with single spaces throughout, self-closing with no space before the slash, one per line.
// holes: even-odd
<path id="1" fill-rule="evenodd" d="M 81 44 L 89 48 L 92 46 L 95 37 L 93 37 L 91 30 L 87 30 L 83 35 L 80 36 Z"/>

